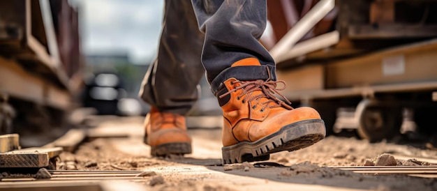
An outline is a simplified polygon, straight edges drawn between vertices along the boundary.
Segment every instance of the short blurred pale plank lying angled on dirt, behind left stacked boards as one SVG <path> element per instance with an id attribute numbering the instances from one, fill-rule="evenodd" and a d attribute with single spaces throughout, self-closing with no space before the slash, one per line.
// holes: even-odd
<path id="1" fill-rule="evenodd" d="M 73 152 L 84 141 L 85 137 L 84 130 L 71 129 L 52 144 L 53 146 L 62 147 L 64 151 Z"/>

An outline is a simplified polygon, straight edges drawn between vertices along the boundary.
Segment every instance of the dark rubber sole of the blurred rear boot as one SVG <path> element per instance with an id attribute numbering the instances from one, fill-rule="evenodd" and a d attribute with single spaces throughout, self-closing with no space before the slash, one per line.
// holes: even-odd
<path id="1" fill-rule="evenodd" d="M 151 146 L 152 156 L 184 155 L 191 153 L 191 144 L 186 142 L 176 142 Z"/>

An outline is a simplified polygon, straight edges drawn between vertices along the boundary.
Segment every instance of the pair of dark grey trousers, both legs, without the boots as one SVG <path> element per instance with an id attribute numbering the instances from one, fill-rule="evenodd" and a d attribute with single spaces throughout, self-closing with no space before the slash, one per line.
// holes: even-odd
<path id="1" fill-rule="evenodd" d="M 274 60 L 258 42 L 266 22 L 266 0 L 165 1 L 158 57 L 142 83 L 142 100 L 160 111 L 186 114 L 198 100 L 196 86 L 205 70 L 214 94 L 230 77 L 267 79 L 270 73 L 276 80 Z M 230 68 L 250 57 L 261 66 Z"/>

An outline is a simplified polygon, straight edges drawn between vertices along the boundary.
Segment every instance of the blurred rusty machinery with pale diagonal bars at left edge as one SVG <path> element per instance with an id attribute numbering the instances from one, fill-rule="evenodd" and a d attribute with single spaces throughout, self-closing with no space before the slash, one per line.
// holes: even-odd
<path id="1" fill-rule="evenodd" d="M 0 133 L 60 127 L 82 86 L 77 11 L 67 0 L 0 1 Z"/>

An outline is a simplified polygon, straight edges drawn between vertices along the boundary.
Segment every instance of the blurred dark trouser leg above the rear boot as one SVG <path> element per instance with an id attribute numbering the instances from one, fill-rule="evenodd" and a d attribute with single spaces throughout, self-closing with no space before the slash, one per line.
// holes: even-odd
<path id="1" fill-rule="evenodd" d="M 142 82 L 140 96 L 161 112 L 186 114 L 198 100 L 205 69 L 200 57 L 204 34 L 190 1 L 165 1 L 158 57 Z"/>

